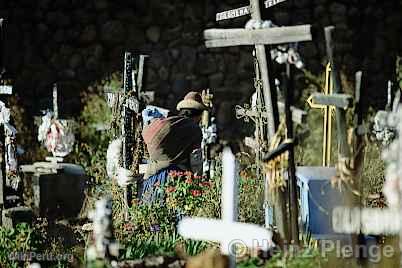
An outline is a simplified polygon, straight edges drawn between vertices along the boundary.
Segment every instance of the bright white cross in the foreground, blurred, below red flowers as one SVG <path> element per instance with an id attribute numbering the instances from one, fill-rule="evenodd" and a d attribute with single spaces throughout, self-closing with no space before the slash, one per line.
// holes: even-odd
<path id="1" fill-rule="evenodd" d="M 247 223 L 236 222 L 238 213 L 238 176 L 236 174 L 235 157 L 229 148 L 225 148 L 222 156 L 222 219 L 184 218 L 178 230 L 186 239 L 218 242 L 221 253 L 230 258 L 231 267 L 235 267 L 234 245 L 247 248 L 259 248 L 268 251 L 274 246 L 272 232 Z"/>

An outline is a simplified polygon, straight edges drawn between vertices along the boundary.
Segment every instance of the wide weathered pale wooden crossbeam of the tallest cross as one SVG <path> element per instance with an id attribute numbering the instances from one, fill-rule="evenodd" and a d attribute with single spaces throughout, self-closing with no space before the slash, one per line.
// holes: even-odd
<path id="1" fill-rule="evenodd" d="M 311 41 L 311 25 L 275 27 L 267 29 L 209 29 L 204 31 L 205 45 L 208 48 L 276 45 Z"/>

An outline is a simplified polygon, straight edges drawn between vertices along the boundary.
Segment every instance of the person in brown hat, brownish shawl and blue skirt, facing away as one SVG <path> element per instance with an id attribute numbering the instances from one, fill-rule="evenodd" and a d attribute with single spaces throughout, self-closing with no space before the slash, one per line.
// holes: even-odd
<path id="1" fill-rule="evenodd" d="M 154 119 L 144 127 L 142 136 L 149 162 L 140 190 L 140 200 L 161 200 L 161 187 L 172 171 L 191 171 L 191 153 L 201 146 L 199 127 L 202 113 L 208 109 L 198 92 L 189 92 L 177 104 L 178 115 Z"/>

